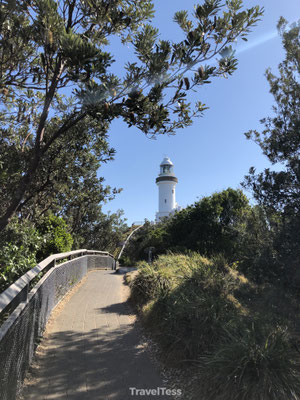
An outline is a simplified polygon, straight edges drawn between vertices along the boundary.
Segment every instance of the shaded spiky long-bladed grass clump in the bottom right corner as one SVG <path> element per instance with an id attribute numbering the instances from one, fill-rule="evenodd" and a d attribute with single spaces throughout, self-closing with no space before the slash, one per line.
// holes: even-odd
<path id="1" fill-rule="evenodd" d="M 207 400 L 299 399 L 300 358 L 286 329 L 266 328 L 264 321 L 256 321 L 225 337 L 199 360 L 199 381 Z"/>

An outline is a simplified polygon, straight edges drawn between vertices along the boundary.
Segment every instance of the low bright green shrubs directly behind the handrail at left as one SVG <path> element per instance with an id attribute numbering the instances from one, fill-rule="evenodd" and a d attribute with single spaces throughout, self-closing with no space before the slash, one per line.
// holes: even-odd
<path id="1" fill-rule="evenodd" d="M 72 250 L 73 236 L 77 248 L 114 253 L 127 229 L 120 217 L 120 213 L 106 216 L 100 212 L 96 223 L 76 235 L 71 235 L 63 218 L 49 212 L 35 223 L 14 218 L 0 234 L 0 292 L 49 255 Z"/>

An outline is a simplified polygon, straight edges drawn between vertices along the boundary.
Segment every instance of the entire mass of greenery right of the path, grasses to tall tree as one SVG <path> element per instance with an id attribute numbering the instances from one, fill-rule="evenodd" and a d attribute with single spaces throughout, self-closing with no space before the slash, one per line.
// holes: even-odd
<path id="1" fill-rule="evenodd" d="M 282 170 L 250 169 L 257 205 L 240 190 L 215 193 L 145 224 L 125 254 L 138 266 L 131 301 L 165 362 L 196 376 L 194 399 L 300 399 L 300 25 L 278 27 L 286 57 L 279 77 L 267 71 L 274 115 L 246 135 Z M 138 262 L 151 246 L 153 264 Z"/>

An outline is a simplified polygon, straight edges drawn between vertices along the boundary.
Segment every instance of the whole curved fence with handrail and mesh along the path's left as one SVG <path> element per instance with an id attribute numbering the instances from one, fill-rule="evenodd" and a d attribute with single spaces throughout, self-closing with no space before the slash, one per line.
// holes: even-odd
<path id="1" fill-rule="evenodd" d="M 54 254 L 0 294 L 0 400 L 17 398 L 57 304 L 89 271 L 115 268 L 116 260 L 105 251 Z"/>

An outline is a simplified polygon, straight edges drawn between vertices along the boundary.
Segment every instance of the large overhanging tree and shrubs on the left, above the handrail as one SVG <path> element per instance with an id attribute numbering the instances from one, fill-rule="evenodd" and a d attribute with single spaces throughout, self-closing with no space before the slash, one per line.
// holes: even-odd
<path id="1" fill-rule="evenodd" d="M 98 177 L 115 153 L 107 141 L 111 122 L 122 118 L 149 136 L 190 125 L 206 106 L 189 103 L 188 94 L 234 72 L 230 43 L 246 40 L 262 11 L 244 10 L 239 0 L 205 0 L 192 14 L 175 14 L 183 39 L 174 43 L 151 25 L 151 0 L 1 2 L 4 286 L 72 243 L 117 253 L 128 228 L 121 211 L 105 215 L 101 205 L 119 190 Z M 136 55 L 124 76 L 111 71 L 116 36 Z"/>

